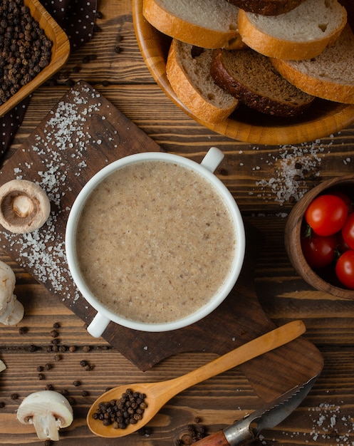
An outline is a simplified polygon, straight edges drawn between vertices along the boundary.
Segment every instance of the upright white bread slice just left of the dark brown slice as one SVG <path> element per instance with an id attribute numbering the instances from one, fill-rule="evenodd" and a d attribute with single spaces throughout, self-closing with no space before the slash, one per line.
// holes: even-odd
<path id="1" fill-rule="evenodd" d="M 197 51 L 194 56 L 193 51 Z M 195 48 L 172 39 L 166 74 L 177 98 L 204 122 L 226 119 L 239 101 L 218 87 L 210 75 L 211 49 Z"/>

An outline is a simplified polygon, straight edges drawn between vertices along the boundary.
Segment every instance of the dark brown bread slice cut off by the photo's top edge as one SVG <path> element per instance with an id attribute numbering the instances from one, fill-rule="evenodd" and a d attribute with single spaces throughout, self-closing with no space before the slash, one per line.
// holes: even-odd
<path id="1" fill-rule="evenodd" d="M 304 0 L 227 0 L 247 12 L 263 16 L 278 16 L 296 8 Z"/>

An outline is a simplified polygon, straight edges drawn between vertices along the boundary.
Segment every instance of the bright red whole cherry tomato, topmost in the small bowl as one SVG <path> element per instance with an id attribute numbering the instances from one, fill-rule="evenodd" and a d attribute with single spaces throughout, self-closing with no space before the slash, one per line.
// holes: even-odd
<path id="1" fill-rule="evenodd" d="M 306 222 L 318 235 L 332 235 L 344 226 L 348 210 L 343 199 L 335 195 L 320 195 L 305 211 Z"/>

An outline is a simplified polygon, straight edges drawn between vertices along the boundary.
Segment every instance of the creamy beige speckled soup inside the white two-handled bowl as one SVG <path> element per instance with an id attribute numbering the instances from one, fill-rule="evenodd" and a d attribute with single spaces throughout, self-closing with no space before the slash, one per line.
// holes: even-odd
<path id="1" fill-rule="evenodd" d="M 175 321 L 207 304 L 235 249 L 219 192 L 173 162 L 145 160 L 113 172 L 78 219 L 83 280 L 105 308 L 134 321 Z"/>

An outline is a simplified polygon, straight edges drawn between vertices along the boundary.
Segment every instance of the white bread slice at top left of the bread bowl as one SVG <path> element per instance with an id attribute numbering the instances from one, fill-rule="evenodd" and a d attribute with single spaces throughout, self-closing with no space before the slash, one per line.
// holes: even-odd
<path id="1" fill-rule="evenodd" d="M 239 8 L 226 0 L 144 0 L 142 15 L 158 31 L 201 48 L 243 46 Z"/>

